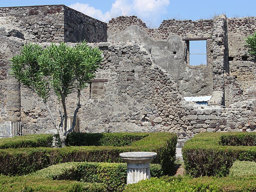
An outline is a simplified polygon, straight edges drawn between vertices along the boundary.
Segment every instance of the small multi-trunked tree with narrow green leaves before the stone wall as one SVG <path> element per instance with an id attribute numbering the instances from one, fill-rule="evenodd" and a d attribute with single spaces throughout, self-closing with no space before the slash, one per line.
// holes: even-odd
<path id="1" fill-rule="evenodd" d="M 39 44 L 27 44 L 22 47 L 20 55 L 11 59 L 11 74 L 42 99 L 60 135 L 62 147 L 66 146 L 67 134 L 75 127 L 76 115 L 81 108 L 81 90 L 95 78 L 102 60 L 102 52 L 87 46 L 85 41 L 74 47 L 66 43 L 51 44 L 46 48 Z M 60 124 L 56 123 L 47 105 L 50 92 L 54 92 L 58 99 L 60 116 L 55 118 L 59 119 Z M 77 93 L 77 106 L 72 125 L 67 129 L 66 98 L 72 92 Z"/>

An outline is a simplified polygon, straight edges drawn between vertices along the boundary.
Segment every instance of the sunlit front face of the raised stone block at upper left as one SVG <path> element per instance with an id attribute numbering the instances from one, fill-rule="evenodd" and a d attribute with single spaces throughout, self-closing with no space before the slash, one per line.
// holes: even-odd
<path id="1" fill-rule="evenodd" d="M 15 27 L 9 36 L 34 42 L 64 41 L 64 5 L 4 7 L 0 17 Z"/>

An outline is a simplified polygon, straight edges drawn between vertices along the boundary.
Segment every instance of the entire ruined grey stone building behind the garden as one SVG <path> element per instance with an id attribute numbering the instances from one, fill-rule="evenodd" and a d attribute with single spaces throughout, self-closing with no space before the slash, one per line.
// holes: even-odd
<path id="1" fill-rule="evenodd" d="M 81 95 L 81 132 L 164 131 L 180 139 L 252 132 L 256 70 L 244 38 L 256 30 L 255 21 L 220 15 L 148 28 L 135 16 L 107 24 L 65 5 L 0 8 L 0 135 L 20 126 L 25 134 L 54 131 L 40 98 L 9 75 L 9 59 L 27 42 L 74 45 L 84 39 L 104 52 L 104 62 Z M 206 41 L 205 65 L 190 65 L 192 41 Z M 68 101 L 72 114 L 76 96 Z M 56 103 L 48 104 L 57 116 Z"/>

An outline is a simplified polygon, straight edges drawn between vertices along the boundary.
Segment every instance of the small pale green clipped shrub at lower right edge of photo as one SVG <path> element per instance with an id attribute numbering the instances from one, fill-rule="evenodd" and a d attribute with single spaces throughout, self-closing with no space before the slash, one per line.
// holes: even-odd
<path id="1" fill-rule="evenodd" d="M 233 177 L 256 175 L 256 162 L 235 161 L 229 170 L 229 175 Z"/>

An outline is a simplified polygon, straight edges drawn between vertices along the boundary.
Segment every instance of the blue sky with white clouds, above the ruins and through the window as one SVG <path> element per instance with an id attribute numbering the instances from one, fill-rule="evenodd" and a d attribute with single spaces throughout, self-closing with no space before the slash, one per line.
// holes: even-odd
<path id="1" fill-rule="evenodd" d="M 212 19 L 215 15 L 227 17 L 256 16 L 256 0 L 0 0 L 0 7 L 64 4 L 98 20 L 108 22 L 120 15 L 136 15 L 150 28 L 158 28 L 163 20 Z M 203 42 L 190 47 L 190 52 L 205 51 Z M 190 61 L 205 63 L 206 56 L 193 55 Z"/>

